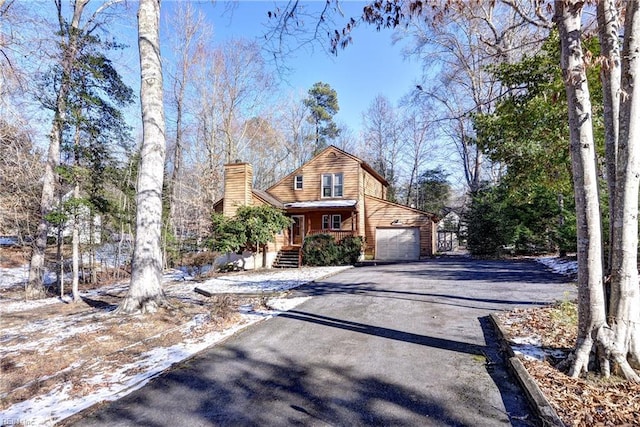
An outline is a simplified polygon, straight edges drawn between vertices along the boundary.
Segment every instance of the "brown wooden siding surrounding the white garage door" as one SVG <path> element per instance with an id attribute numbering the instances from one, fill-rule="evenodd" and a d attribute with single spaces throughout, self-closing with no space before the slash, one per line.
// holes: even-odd
<path id="1" fill-rule="evenodd" d="M 376 228 L 392 227 L 396 220 L 405 227 L 420 227 L 420 257 L 429 257 L 435 253 L 436 223 L 429 213 L 375 197 L 365 198 L 365 212 L 365 254 L 375 257 Z"/>

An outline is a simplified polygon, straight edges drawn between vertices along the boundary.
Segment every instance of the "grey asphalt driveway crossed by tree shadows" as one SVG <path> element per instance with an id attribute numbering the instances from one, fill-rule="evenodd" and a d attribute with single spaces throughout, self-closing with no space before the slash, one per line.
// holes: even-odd
<path id="1" fill-rule="evenodd" d="M 354 268 L 78 425 L 534 425 L 487 315 L 566 292 L 527 261 Z"/>

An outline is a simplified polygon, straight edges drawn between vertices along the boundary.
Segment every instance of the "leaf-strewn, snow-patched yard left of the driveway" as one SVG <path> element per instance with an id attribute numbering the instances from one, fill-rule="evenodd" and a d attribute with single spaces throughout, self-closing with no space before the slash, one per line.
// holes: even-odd
<path id="1" fill-rule="evenodd" d="M 255 322 L 304 302 L 289 290 L 344 270 L 314 267 L 227 274 L 196 282 L 170 271 L 172 305 L 154 315 L 116 316 L 128 283 L 81 289 L 82 301 L 24 301 L 26 269 L 0 271 L 0 418 L 54 425 L 142 387 L 175 363 Z M 194 292 L 205 287 L 212 297 Z"/>

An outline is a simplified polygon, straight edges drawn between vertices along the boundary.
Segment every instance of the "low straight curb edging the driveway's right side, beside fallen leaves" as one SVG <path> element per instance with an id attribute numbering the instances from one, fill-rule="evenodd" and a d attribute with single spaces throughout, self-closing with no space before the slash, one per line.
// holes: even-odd
<path id="1" fill-rule="evenodd" d="M 542 390 L 540 390 L 540 387 L 538 387 L 538 384 L 536 384 L 535 380 L 531 375 L 529 375 L 529 372 L 524 367 L 520 359 L 513 352 L 513 349 L 507 341 L 505 330 L 498 317 L 495 314 L 491 314 L 489 318 L 496 329 L 496 334 L 498 335 L 498 340 L 500 341 L 502 350 L 504 350 L 508 355 L 507 365 L 509 367 L 509 371 L 518 380 L 518 383 L 524 390 L 524 394 L 529 401 L 529 405 L 534 410 L 538 418 L 540 418 L 542 425 L 545 427 L 566 427 L 555 409 L 553 409 L 553 406 L 549 403 L 549 400 L 547 400 L 544 393 L 542 393 Z"/>

